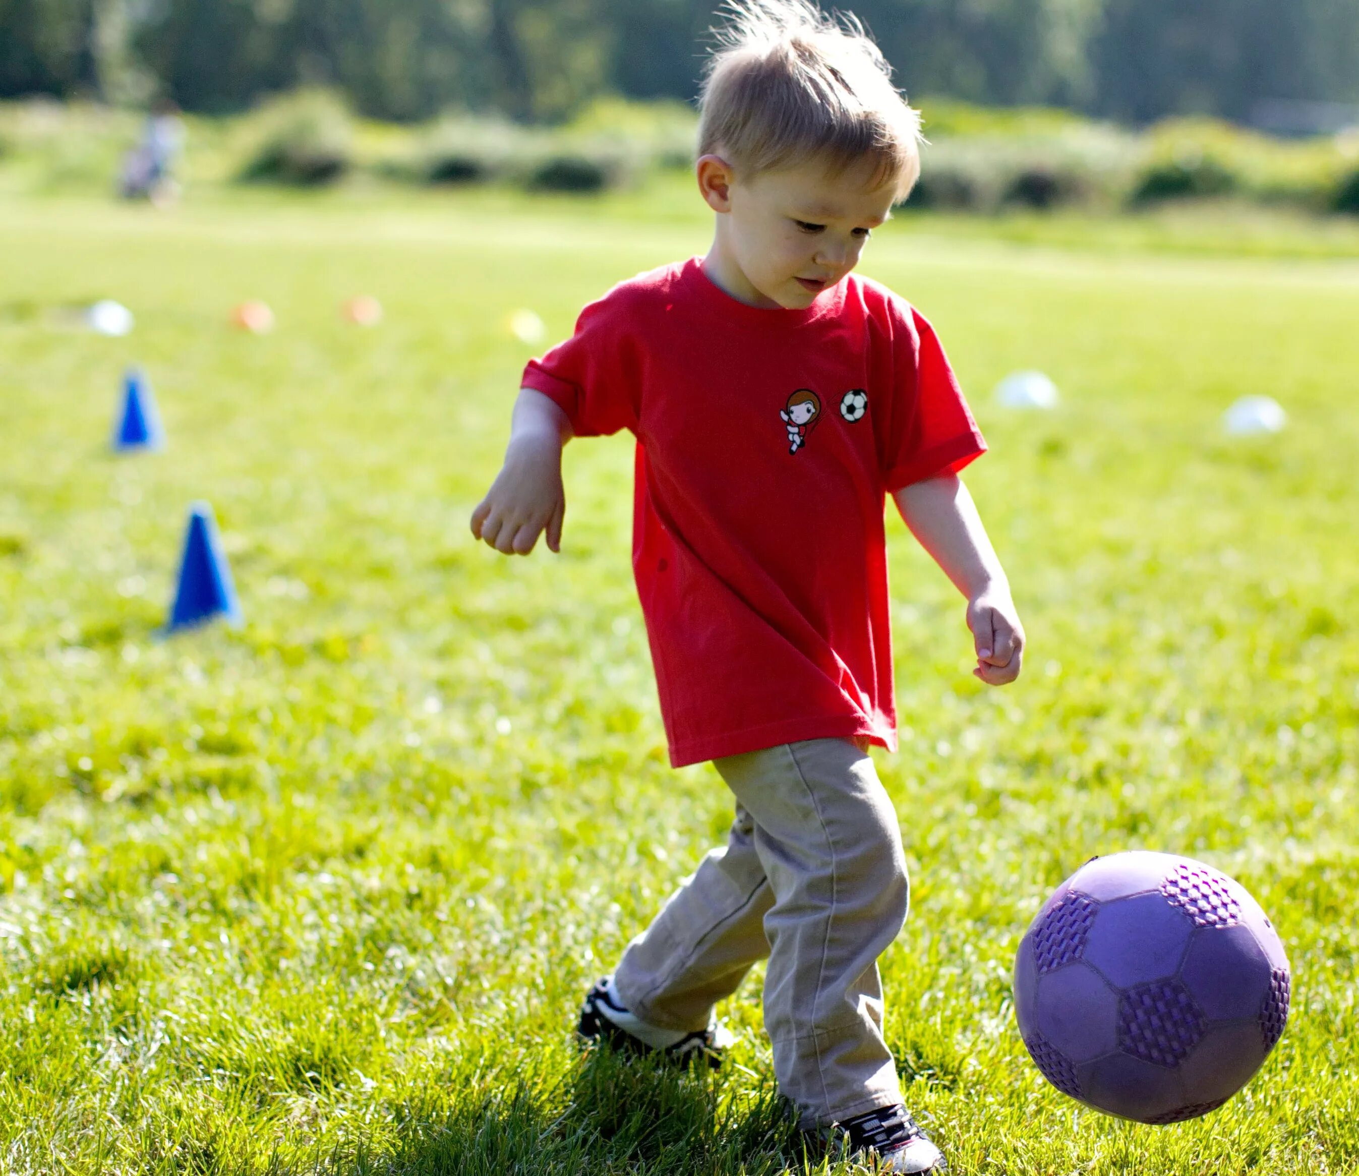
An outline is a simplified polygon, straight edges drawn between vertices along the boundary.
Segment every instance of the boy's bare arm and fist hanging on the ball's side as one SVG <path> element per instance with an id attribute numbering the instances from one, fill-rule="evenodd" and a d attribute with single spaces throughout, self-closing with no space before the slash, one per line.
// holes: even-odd
<path id="1" fill-rule="evenodd" d="M 968 488 L 950 473 L 902 487 L 893 498 L 911 533 L 968 598 L 973 673 L 993 687 L 1012 682 L 1023 662 L 1023 625 Z"/>

